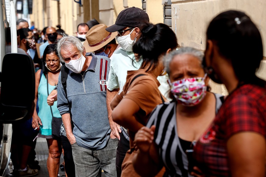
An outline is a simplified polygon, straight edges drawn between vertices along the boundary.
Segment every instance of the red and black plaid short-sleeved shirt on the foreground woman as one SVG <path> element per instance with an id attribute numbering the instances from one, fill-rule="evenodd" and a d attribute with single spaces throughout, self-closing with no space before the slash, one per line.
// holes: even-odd
<path id="1" fill-rule="evenodd" d="M 230 176 L 227 140 L 241 131 L 266 137 L 266 88 L 246 84 L 232 92 L 213 124 L 194 147 L 197 166 L 207 176 Z"/>

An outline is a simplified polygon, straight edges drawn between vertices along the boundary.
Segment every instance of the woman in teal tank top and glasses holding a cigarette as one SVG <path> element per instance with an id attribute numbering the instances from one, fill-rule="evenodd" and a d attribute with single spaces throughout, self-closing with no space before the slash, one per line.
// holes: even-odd
<path id="1" fill-rule="evenodd" d="M 39 108 L 34 110 L 32 127 L 39 130 L 38 137 L 46 138 L 49 155 L 47 159 L 47 169 L 50 177 L 55 177 L 59 171 L 60 156 L 62 152 L 59 140 L 52 138 L 52 117 L 62 118 L 57 109 L 57 104 L 50 106 L 47 104 L 48 93 L 55 88 L 58 83 L 61 63 L 54 44 L 48 45 L 44 50 L 43 70 L 38 70 L 35 74 L 35 105 Z M 48 90 L 48 91 L 47 91 Z M 37 101 L 38 100 L 38 101 Z M 59 120 L 60 121 L 60 120 Z M 58 130 L 60 131 L 60 130 Z"/>

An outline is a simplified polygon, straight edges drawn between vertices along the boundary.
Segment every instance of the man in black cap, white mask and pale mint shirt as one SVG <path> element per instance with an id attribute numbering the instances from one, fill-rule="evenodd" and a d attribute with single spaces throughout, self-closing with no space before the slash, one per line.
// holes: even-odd
<path id="1" fill-rule="evenodd" d="M 115 39 L 121 46 L 121 48 L 113 53 L 110 64 L 106 95 L 108 113 L 112 113 L 110 102 L 119 91 L 119 88 L 123 88 L 126 82 L 127 71 L 140 68 L 142 61 L 135 59 L 132 47 L 140 34 L 140 27 L 146 23 L 149 23 L 148 14 L 137 7 L 130 7 L 119 13 L 114 25 L 106 28 L 108 32 L 117 31 L 118 34 Z M 120 140 L 116 150 L 116 170 L 117 176 L 120 176 L 122 161 L 126 151 L 129 150 L 129 138 L 126 130 L 123 128 L 121 128 L 122 133 L 120 136 L 120 126 L 110 121 L 111 114 L 108 117 L 112 132 L 115 132 L 115 136 Z"/>

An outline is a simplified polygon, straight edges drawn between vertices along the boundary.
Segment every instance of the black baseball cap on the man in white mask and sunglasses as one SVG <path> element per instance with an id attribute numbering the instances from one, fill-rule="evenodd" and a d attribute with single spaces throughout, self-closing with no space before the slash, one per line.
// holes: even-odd
<path id="1" fill-rule="evenodd" d="M 106 28 L 106 31 L 115 32 L 127 26 L 137 27 L 149 23 L 149 21 L 149 16 L 144 10 L 137 7 L 129 7 L 118 14 L 115 24 Z"/>

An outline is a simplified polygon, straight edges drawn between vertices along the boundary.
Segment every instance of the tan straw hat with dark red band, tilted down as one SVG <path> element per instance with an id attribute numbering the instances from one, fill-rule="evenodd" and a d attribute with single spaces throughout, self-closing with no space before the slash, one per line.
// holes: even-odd
<path id="1" fill-rule="evenodd" d="M 90 28 L 83 43 L 86 52 L 97 51 L 115 39 L 117 32 L 110 33 L 105 30 L 106 28 L 105 24 L 95 25 Z"/>

